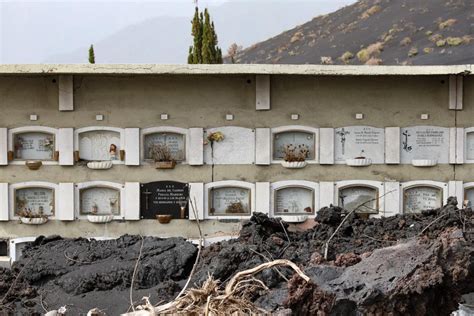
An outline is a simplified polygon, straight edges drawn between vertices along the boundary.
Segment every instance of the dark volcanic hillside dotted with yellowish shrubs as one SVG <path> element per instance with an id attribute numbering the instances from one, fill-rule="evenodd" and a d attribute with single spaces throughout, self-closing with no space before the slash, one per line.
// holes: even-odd
<path id="1" fill-rule="evenodd" d="M 244 49 L 235 62 L 474 63 L 474 1 L 361 0 Z"/>

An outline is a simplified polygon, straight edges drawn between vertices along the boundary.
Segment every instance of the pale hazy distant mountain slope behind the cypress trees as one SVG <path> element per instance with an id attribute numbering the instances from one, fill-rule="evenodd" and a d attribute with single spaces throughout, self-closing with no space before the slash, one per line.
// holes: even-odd
<path id="1" fill-rule="evenodd" d="M 316 14 L 332 12 L 353 0 L 310 1 L 229 1 L 210 7 L 219 45 L 224 51 L 230 44 L 250 45 L 278 34 Z M 293 9 L 293 8 L 298 8 Z M 158 16 L 127 26 L 94 44 L 97 63 L 186 63 L 191 38 L 190 7 L 187 17 Z M 87 62 L 88 46 L 65 54 L 52 55 L 47 63 Z M 79 46 L 79 45 L 78 45 Z M 82 45 L 80 45 L 82 46 Z"/>

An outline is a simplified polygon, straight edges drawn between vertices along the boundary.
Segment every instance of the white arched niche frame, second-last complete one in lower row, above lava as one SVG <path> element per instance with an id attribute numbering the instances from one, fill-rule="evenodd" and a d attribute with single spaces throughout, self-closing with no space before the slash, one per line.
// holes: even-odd
<path id="1" fill-rule="evenodd" d="M 372 180 L 346 180 L 334 184 L 335 205 L 352 211 L 358 206 L 358 213 L 369 214 L 370 217 L 380 217 L 385 212 L 384 183 Z M 345 194 L 343 196 L 342 194 Z M 370 202 L 369 202 L 370 201 Z M 341 205 L 345 203 L 345 205 Z"/>

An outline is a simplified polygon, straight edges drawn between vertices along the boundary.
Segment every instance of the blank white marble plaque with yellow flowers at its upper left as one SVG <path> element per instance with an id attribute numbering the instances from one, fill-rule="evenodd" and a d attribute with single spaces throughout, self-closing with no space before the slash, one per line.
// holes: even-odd
<path id="1" fill-rule="evenodd" d="M 204 146 L 206 164 L 232 165 L 253 164 L 255 162 L 255 133 L 250 128 L 225 126 L 206 130 L 204 135 L 221 132 L 224 140 Z"/>

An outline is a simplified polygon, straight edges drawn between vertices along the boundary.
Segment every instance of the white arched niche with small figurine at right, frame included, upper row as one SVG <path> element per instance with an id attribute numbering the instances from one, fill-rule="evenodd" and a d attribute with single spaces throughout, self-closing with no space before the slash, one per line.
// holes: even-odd
<path id="1" fill-rule="evenodd" d="M 125 129 L 109 126 L 89 126 L 74 131 L 74 151 L 79 153 L 80 159 L 90 161 L 111 160 L 109 155 L 111 144 L 117 146 L 117 159 L 112 159 L 112 163 L 124 164 L 120 152 L 125 150 Z"/>

